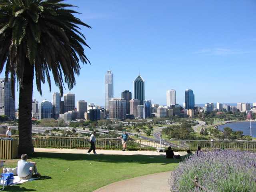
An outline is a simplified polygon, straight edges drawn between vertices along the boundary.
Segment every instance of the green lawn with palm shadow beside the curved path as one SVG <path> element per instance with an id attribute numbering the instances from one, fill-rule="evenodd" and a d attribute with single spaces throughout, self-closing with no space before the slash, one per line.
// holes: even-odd
<path id="1" fill-rule="evenodd" d="M 16 166 L 9 160 L 6 167 Z M 35 153 L 40 180 L 8 186 L 5 191 L 91 192 L 110 183 L 174 170 L 178 160 L 145 155 Z"/>

